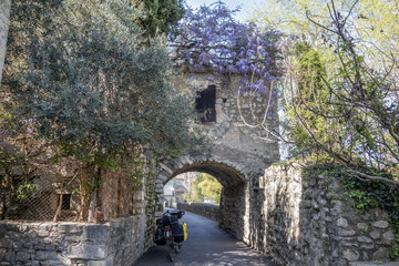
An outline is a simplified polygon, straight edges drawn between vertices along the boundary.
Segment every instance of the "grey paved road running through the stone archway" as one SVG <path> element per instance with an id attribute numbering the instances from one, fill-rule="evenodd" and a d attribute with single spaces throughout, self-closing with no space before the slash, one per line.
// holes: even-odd
<path id="1" fill-rule="evenodd" d="M 181 221 L 187 223 L 188 237 L 174 263 L 168 260 L 165 246 L 154 246 L 134 266 L 277 266 L 214 221 L 188 212 Z"/>

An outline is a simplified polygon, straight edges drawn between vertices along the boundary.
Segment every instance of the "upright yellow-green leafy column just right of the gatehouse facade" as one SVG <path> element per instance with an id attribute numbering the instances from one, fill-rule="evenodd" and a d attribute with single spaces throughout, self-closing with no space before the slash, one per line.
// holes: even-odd
<path id="1" fill-rule="evenodd" d="M 294 48 L 296 68 L 300 73 L 298 88 L 291 93 L 289 102 L 284 104 L 286 111 L 285 127 L 288 137 L 295 142 L 291 154 L 301 154 L 304 151 L 315 152 L 320 156 L 320 146 L 314 139 L 324 144 L 336 145 L 326 134 L 329 123 L 313 111 L 319 110 L 321 101 L 328 95 L 325 85 L 326 69 L 319 53 L 306 43 L 297 43 Z M 317 94 L 316 94 L 317 93 Z"/>

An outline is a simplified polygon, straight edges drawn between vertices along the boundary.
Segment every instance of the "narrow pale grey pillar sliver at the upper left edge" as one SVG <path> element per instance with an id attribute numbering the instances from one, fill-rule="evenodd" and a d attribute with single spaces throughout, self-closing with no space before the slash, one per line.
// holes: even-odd
<path id="1" fill-rule="evenodd" d="M 6 44 L 10 22 L 11 0 L 0 1 L 0 82 L 6 58 Z"/>

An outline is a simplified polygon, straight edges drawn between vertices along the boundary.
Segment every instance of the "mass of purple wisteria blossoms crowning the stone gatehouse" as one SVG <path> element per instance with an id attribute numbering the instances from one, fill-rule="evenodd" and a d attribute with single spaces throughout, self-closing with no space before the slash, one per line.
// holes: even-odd
<path id="1" fill-rule="evenodd" d="M 171 41 L 174 60 L 194 69 L 213 68 L 219 74 L 241 74 L 241 90 L 266 92 L 277 76 L 274 55 L 278 34 L 239 23 L 233 18 L 237 11 L 222 1 L 196 11 L 188 9 L 181 21 L 181 34 Z"/>

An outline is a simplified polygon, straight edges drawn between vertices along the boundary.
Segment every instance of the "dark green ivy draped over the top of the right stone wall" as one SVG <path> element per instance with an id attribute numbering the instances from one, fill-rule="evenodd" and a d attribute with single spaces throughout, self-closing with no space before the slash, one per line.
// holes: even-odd
<path id="1" fill-rule="evenodd" d="M 364 173 L 372 176 L 381 176 L 392 180 L 392 175 L 376 168 L 361 168 Z M 364 214 L 371 208 L 379 207 L 389 215 L 389 223 L 393 229 L 397 242 L 399 243 L 399 191 L 396 186 L 380 181 L 365 181 L 349 174 L 345 166 L 320 164 L 306 167 L 304 176 L 336 177 L 346 191 L 344 198 L 352 201 L 352 207 L 358 213 Z M 389 254 L 391 259 L 398 258 L 398 248 Z"/>

